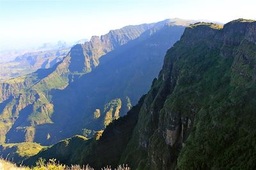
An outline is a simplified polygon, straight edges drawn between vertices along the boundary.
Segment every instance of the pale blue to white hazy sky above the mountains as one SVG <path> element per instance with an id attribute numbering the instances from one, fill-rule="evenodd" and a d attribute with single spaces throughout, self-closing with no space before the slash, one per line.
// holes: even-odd
<path id="1" fill-rule="evenodd" d="M 0 0 L 0 48 L 76 41 L 166 18 L 256 18 L 255 0 Z"/>

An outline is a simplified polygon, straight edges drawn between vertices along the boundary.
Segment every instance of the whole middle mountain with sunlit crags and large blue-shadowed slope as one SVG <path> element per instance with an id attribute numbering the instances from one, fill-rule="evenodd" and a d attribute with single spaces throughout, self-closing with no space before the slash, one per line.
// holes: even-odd
<path id="1" fill-rule="evenodd" d="M 177 20 L 172 26 L 165 25 L 168 22 L 129 25 L 102 38 L 93 36 L 50 68 L 1 82 L 0 142 L 52 145 L 82 134 L 82 129 L 104 129 L 125 115 L 147 92 L 161 69 L 163 53 L 184 31 L 175 25 Z M 39 63 L 36 57 L 35 62 Z M 47 68 L 49 63 L 45 64 Z M 121 102 L 126 96 L 132 99 L 127 106 Z M 103 111 L 111 99 L 120 101 Z"/>

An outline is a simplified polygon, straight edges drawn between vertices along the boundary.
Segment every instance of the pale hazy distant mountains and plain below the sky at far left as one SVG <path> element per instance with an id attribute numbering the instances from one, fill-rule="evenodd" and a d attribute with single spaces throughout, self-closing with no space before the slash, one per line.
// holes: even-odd
<path id="1" fill-rule="evenodd" d="M 0 81 L 33 73 L 37 69 L 50 68 L 61 61 L 72 46 L 86 41 L 88 40 L 80 39 L 74 43 L 58 41 L 56 45 L 44 43 L 38 48 L 2 51 L 0 52 Z"/>

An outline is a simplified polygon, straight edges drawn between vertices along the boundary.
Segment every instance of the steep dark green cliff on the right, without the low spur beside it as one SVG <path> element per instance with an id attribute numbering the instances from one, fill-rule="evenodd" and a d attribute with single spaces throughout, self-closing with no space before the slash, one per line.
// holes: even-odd
<path id="1" fill-rule="evenodd" d="M 240 140 L 230 137 L 230 132 L 236 134 L 234 127 L 239 129 L 241 124 L 244 128 L 250 125 L 230 125 L 225 121 L 235 118 L 245 107 L 251 107 L 250 111 L 256 109 L 255 102 L 243 103 L 247 98 L 241 97 L 253 97 L 255 93 L 255 24 L 239 19 L 224 27 L 200 23 L 186 29 L 180 41 L 166 53 L 159 78 L 140 110 L 134 130 L 137 136 L 130 143 L 137 152 L 125 153 L 126 159 L 121 162 L 141 169 L 175 169 L 177 160 L 180 169 L 209 169 L 228 164 L 225 159 L 230 158 L 221 155 L 220 150 L 229 152 L 225 143 L 235 147 Z M 245 92 L 243 87 L 248 90 Z M 234 110 L 236 107 L 239 109 Z M 244 113 L 244 120 L 251 114 Z M 132 159 L 135 155 L 140 155 L 140 161 Z M 219 156 L 225 159 L 215 161 Z M 236 166 L 241 166 L 238 161 Z"/>

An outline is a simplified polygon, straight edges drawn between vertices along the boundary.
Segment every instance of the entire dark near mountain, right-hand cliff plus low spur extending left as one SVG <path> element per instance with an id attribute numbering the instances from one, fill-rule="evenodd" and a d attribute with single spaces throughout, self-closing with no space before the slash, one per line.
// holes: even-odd
<path id="1" fill-rule="evenodd" d="M 53 155 L 96 168 L 255 169 L 255 27 L 243 19 L 189 26 L 148 94 L 100 139 L 73 152 L 79 159 L 63 160 L 63 148 L 49 148 L 26 164 Z"/>

